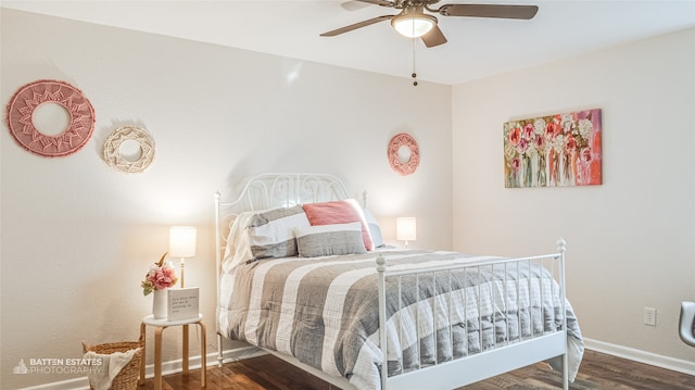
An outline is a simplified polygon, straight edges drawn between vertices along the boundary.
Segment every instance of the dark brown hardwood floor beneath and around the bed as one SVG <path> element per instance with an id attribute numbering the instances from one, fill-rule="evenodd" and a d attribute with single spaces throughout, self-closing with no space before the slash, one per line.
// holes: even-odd
<path id="1" fill-rule="evenodd" d="M 561 373 L 539 363 L 466 386 L 462 390 L 561 389 Z M 169 375 L 164 378 L 164 390 L 200 389 L 200 372 L 191 370 L 187 378 L 180 374 Z M 148 380 L 139 389 L 153 389 L 152 380 Z M 265 355 L 228 363 L 222 368 L 208 367 L 207 389 L 330 390 L 331 387 L 273 355 Z M 695 389 L 695 377 L 586 351 L 577 380 L 570 385 L 570 389 L 692 390 Z"/>

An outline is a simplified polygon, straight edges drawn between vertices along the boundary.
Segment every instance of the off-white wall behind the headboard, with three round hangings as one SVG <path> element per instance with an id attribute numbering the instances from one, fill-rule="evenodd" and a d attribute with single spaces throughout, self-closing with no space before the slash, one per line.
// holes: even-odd
<path id="1" fill-rule="evenodd" d="M 257 173 L 319 172 L 343 178 L 394 241 L 396 216 L 418 217 L 425 248 L 451 249 L 451 87 L 325 66 L 163 36 L 2 9 L 1 100 L 21 86 L 61 79 L 96 110 L 92 139 L 76 154 L 23 150 L 2 124 L 0 388 L 80 375 L 13 375 L 24 358 L 78 357 L 83 340 L 135 340 L 151 311 L 140 280 L 167 250 L 168 227 L 198 226 L 187 286 L 201 287 L 214 326 L 213 198 Z M 101 159 L 123 125 L 156 144 L 143 174 Z M 418 171 L 391 171 L 386 150 L 400 131 L 418 141 Z M 435 191 L 432 189 L 437 189 Z M 151 336 L 151 335 L 150 335 Z M 165 360 L 178 358 L 179 331 Z M 198 354 L 191 347 L 191 354 Z M 151 363 L 151 350 L 149 363 Z"/>

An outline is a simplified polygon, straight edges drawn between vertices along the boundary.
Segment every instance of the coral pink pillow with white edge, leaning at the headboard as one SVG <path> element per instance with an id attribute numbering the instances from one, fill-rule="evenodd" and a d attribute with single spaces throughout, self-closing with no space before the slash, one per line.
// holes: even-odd
<path id="1" fill-rule="evenodd" d="M 374 241 L 371 241 L 371 235 L 367 227 L 367 219 L 356 200 L 346 199 L 323 203 L 306 203 L 303 207 L 312 226 L 359 222 L 362 224 L 362 239 L 365 241 L 365 249 L 374 251 Z"/>

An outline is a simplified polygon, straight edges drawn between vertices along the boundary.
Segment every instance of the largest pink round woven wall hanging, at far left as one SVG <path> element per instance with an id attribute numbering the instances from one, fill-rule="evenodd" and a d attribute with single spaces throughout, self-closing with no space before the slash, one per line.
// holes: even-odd
<path id="1" fill-rule="evenodd" d="M 73 154 L 83 148 L 91 138 L 94 121 L 89 100 L 65 81 L 29 83 L 8 103 L 7 122 L 14 139 L 29 152 L 47 158 Z M 49 127 L 53 128 L 49 131 Z"/>

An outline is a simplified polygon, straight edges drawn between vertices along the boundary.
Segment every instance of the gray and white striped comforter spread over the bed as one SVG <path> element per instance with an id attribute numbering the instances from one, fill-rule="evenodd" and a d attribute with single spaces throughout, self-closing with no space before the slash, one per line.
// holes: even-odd
<path id="1" fill-rule="evenodd" d="M 375 257 L 371 252 L 240 265 L 222 276 L 218 327 L 231 339 L 346 377 L 358 389 L 378 389 L 383 356 L 378 349 Z M 424 251 L 384 252 L 384 257 L 394 269 L 489 259 Z M 522 264 L 519 269 L 428 275 L 418 277 L 419 288 L 414 277 L 404 277 L 401 289 L 388 281 L 390 375 L 538 336 L 561 324 L 558 288 L 544 268 Z M 569 303 L 566 309 L 573 380 L 583 343 Z"/>

